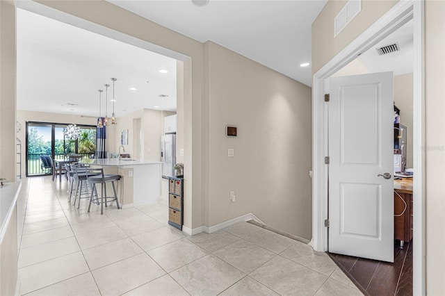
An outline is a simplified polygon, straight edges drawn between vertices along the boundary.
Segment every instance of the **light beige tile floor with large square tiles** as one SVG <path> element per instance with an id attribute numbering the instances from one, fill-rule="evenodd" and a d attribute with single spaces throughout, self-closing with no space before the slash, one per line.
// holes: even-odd
<path id="1" fill-rule="evenodd" d="M 23 180 L 21 295 L 362 295 L 325 253 L 248 222 L 187 236 L 164 204 L 67 198 L 65 180 Z"/>

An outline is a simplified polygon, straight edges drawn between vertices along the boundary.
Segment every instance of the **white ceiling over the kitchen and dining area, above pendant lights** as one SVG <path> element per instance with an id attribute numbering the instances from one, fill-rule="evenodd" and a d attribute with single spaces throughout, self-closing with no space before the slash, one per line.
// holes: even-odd
<path id="1" fill-rule="evenodd" d="M 17 9 L 17 109 L 97 117 L 97 90 L 107 83 L 110 116 L 111 77 L 118 79 L 118 117 L 154 106 L 176 110 L 176 60 Z M 105 92 L 102 115 L 104 104 Z"/>

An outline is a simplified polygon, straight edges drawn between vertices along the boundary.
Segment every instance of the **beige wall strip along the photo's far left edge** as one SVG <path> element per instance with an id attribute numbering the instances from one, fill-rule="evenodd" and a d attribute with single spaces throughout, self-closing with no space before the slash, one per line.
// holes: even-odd
<path id="1" fill-rule="evenodd" d="M 0 1 L 0 178 L 15 181 L 15 7 Z"/>

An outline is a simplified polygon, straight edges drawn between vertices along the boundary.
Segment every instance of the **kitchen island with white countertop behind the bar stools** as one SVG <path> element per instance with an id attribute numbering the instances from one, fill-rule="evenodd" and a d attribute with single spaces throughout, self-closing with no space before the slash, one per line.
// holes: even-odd
<path id="1" fill-rule="evenodd" d="M 122 176 L 118 182 L 118 196 L 122 205 L 151 204 L 157 202 L 161 196 L 161 162 L 159 161 L 99 158 L 86 159 L 81 163 L 88 164 L 90 167 L 102 167 L 104 174 Z"/>

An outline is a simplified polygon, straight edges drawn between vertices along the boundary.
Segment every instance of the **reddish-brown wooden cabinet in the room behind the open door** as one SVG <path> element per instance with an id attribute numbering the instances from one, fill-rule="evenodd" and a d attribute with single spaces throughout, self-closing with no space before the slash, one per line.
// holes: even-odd
<path id="1" fill-rule="evenodd" d="M 406 206 L 405 206 L 406 205 Z M 394 239 L 403 242 L 412 240 L 412 192 L 394 192 Z"/>

